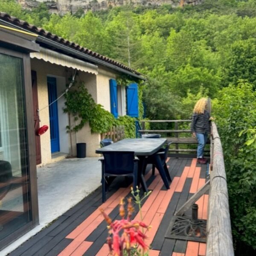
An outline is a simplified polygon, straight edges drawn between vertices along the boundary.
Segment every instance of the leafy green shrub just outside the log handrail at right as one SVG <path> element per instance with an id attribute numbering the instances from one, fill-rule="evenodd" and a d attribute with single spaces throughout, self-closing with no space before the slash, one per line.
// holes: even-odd
<path id="1" fill-rule="evenodd" d="M 250 255 L 256 249 L 256 93 L 252 84 L 239 81 L 222 89 L 213 110 L 224 151 L 233 239 L 238 255 Z M 248 251 L 239 252 L 241 245 Z"/>

